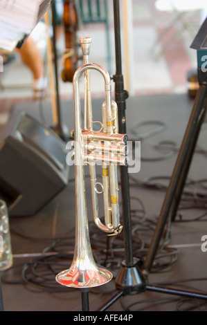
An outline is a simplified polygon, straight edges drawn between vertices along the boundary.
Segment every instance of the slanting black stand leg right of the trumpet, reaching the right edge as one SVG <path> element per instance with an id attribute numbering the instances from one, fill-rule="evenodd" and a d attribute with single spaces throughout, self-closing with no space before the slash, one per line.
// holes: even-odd
<path id="1" fill-rule="evenodd" d="M 190 143 L 193 141 L 193 139 L 195 139 L 195 135 L 198 132 L 197 124 L 199 122 L 199 119 L 201 118 L 201 115 L 206 110 L 204 107 L 204 100 L 206 100 L 206 96 L 207 96 L 207 86 L 206 85 L 200 86 L 197 92 L 197 96 L 195 98 L 195 104 L 192 108 L 192 113 L 190 115 L 190 120 L 188 122 L 186 133 L 184 135 L 183 142 L 181 144 L 181 149 L 177 157 L 177 162 L 174 166 L 172 177 L 170 179 L 168 191 L 165 195 L 165 200 L 161 209 L 161 214 L 159 216 L 158 223 L 156 225 L 156 230 L 154 232 L 152 242 L 150 243 L 150 248 L 147 253 L 147 257 L 143 266 L 143 273 L 146 276 L 152 268 L 152 263 L 156 255 L 156 251 L 159 248 L 159 242 L 161 240 L 165 223 L 168 219 L 168 215 L 172 207 L 174 195 L 177 191 L 177 185 L 179 183 L 179 180 L 181 179 L 183 168 L 185 167 L 186 164 L 186 157 L 188 156 Z"/>

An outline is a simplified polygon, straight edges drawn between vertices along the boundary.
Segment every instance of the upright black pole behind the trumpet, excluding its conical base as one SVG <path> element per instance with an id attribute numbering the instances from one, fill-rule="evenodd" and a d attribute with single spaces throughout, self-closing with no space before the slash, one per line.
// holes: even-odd
<path id="1" fill-rule="evenodd" d="M 124 90 L 122 59 L 121 59 L 121 41 L 120 41 L 120 8 L 119 0 L 114 0 L 114 32 L 115 32 L 115 50 L 116 50 L 116 75 L 115 82 L 115 100 L 118 106 L 118 126 L 120 133 L 126 133 L 125 100 L 127 92 Z M 120 180 L 123 202 L 123 232 L 125 234 L 125 261 L 127 266 L 133 266 L 132 252 L 132 225 L 131 208 L 129 195 L 129 176 L 127 167 L 120 167 Z"/>

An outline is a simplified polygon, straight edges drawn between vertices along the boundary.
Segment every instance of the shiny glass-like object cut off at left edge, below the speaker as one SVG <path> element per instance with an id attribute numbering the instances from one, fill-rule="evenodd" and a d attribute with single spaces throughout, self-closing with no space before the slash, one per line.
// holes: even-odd
<path id="1" fill-rule="evenodd" d="M 0 200 L 0 272 L 10 268 L 12 263 L 8 209 L 6 203 Z"/>

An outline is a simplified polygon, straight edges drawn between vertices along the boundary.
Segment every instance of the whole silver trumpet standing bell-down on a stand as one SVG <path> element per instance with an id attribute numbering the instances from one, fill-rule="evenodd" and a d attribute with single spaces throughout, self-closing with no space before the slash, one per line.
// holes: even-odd
<path id="1" fill-rule="evenodd" d="M 117 165 L 127 165 L 127 135 L 118 133 L 116 102 L 111 100 L 109 73 L 98 64 L 89 63 L 91 37 L 80 38 L 84 64 L 73 76 L 74 147 L 75 147 L 75 251 L 68 270 L 60 272 L 56 281 L 73 288 L 91 288 L 109 282 L 113 275 L 99 268 L 93 259 L 89 239 L 87 204 L 84 182 L 84 165 L 89 164 L 93 219 L 98 228 L 109 235 L 122 230 L 118 208 Z M 93 131 L 91 108 L 90 71 L 101 73 L 105 80 L 105 102 L 102 104 L 100 130 Z M 80 76 L 84 73 L 84 128 L 80 105 Z M 102 165 L 102 183 L 96 180 L 96 164 Z M 101 190 L 98 191 L 98 186 Z M 105 224 L 98 217 L 98 194 L 103 194 Z"/>

